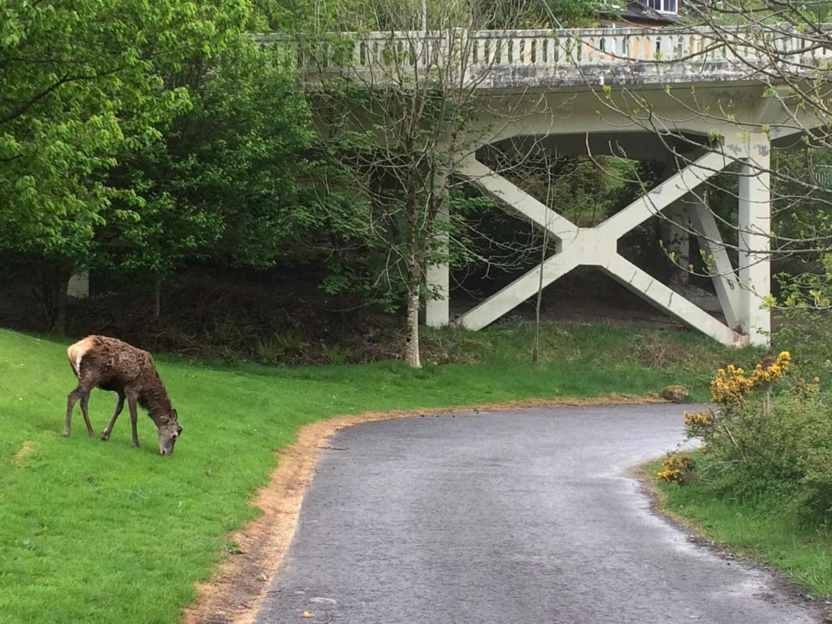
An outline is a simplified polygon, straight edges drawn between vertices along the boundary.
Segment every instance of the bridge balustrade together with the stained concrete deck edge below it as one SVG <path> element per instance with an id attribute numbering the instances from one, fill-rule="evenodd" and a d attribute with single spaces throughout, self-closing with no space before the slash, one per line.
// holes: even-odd
<path id="1" fill-rule="evenodd" d="M 832 61 L 832 48 L 816 38 L 788 32 L 761 37 L 750 29 L 717 37 L 676 27 L 449 29 L 347 33 L 289 49 L 308 85 L 322 73 L 347 71 L 383 83 L 400 81 L 403 71 L 453 67 L 481 89 L 755 81 L 760 68 L 775 62 L 809 73 Z M 261 39 L 286 43 L 280 35 Z"/>

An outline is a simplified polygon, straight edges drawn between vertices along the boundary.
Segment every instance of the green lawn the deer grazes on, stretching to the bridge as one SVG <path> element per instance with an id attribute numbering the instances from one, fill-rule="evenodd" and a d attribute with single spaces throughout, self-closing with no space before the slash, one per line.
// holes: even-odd
<path id="1" fill-rule="evenodd" d="M 367 410 L 508 399 L 646 395 L 687 384 L 705 399 L 716 365 L 754 359 L 691 332 L 547 325 L 532 369 L 532 329 L 502 326 L 428 339 L 473 364 L 399 362 L 300 369 L 157 356 L 184 427 L 162 458 L 139 420 L 121 415 L 108 443 L 87 438 L 80 409 L 61 437 L 75 379 L 67 342 L 0 330 L 0 622 L 176 622 L 210 576 L 224 536 L 257 513 L 245 502 L 272 451 L 305 423 Z M 97 433 L 115 395 L 90 401 Z"/>

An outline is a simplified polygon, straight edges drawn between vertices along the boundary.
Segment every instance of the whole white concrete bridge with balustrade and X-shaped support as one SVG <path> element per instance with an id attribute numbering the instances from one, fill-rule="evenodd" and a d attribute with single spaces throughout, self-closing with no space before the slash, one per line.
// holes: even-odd
<path id="1" fill-rule="evenodd" d="M 775 49 L 780 56 L 774 62 L 800 67 L 808 76 L 826 67 L 832 50 L 799 34 L 783 34 L 763 47 L 758 33 L 737 30 L 732 37 L 735 42 L 726 46 L 701 29 L 376 32 L 341 37 L 339 62 L 332 61 L 332 43 L 298 58 L 312 89 L 324 74 L 369 85 L 401 81 L 430 67 L 456 67 L 459 84 L 490 98 L 492 114 L 478 116 L 470 132 L 476 142 L 449 173 L 546 230 L 557 253 L 453 323 L 483 328 L 535 295 L 541 272 L 546 286 L 579 265 L 592 265 L 722 344 L 767 344 L 770 149 L 795 141 L 805 120 L 787 106 L 788 92 L 778 91 L 776 83 L 771 92 L 772 78 L 760 69 L 772 62 L 766 49 Z M 511 110 L 510 118 L 501 110 Z M 566 156 L 591 152 L 661 161 L 666 174 L 600 225 L 581 227 L 515 186 L 489 161 L 494 147 L 518 141 L 544 141 Z M 731 224 L 735 240 L 726 242 L 703 191 L 735 163 L 739 220 Z M 665 220 L 664 239 L 682 266 L 691 235 L 712 256 L 722 319 L 619 253 L 622 236 L 653 217 Z M 446 241 L 440 236 L 436 244 Z M 439 295 L 428 301 L 427 323 L 452 322 L 448 266 L 428 267 L 427 279 Z"/>

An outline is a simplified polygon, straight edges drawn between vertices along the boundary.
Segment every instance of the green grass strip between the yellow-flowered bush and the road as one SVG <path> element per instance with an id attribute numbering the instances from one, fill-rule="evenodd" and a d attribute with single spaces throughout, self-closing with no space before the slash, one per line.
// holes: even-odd
<path id="1" fill-rule="evenodd" d="M 711 542 L 768 563 L 815 597 L 832 595 L 832 532 L 801 526 L 775 498 L 723 498 L 702 483 L 680 487 L 655 479 L 661 462 L 646 468 L 660 507 Z"/>

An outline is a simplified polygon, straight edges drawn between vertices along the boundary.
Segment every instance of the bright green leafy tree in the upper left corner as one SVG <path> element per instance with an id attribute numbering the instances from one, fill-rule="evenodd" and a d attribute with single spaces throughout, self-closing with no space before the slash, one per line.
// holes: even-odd
<path id="1" fill-rule="evenodd" d="M 0 250 L 42 264 L 60 333 L 67 282 L 97 229 L 135 218 L 135 192 L 110 186 L 106 171 L 186 110 L 186 88 L 166 75 L 223 50 L 250 7 L 4 0 L 0 11 Z"/>

